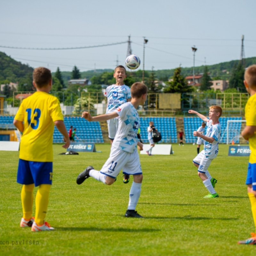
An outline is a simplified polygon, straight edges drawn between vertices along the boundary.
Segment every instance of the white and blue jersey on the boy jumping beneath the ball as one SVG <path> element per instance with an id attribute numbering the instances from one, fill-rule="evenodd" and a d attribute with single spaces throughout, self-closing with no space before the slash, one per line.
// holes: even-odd
<path id="1" fill-rule="evenodd" d="M 131 90 L 127 85 L 112 84 L 107 87 L 104 96 L 108 98 L 106 114 L 109 114 L 131 98 Z"/>

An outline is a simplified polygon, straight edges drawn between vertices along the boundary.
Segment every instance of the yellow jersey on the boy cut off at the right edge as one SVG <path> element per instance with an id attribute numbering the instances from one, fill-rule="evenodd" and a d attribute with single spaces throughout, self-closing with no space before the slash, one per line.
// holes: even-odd
<path id="1" fill-rule="evenodd" d="M 256 94 L 251 96 L 245 106 L 245 119 L 246 125 L 256 126 Z M 249 146 L 251 149 L 251 154 L 249 158 L 249 163 L 256 163 L 256 134 L 249 138 Z"/>

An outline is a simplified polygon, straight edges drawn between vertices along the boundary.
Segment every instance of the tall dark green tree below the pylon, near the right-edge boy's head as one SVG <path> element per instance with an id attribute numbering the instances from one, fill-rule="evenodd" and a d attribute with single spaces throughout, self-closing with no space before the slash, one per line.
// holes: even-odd
<path id="1" fill-rule="evenodd" d="M 244 67 L 241 62 L 237 66 L 234 65 L 228 87 L 236 88 L 239 92 L 246 92 L 244 87 Z"/>

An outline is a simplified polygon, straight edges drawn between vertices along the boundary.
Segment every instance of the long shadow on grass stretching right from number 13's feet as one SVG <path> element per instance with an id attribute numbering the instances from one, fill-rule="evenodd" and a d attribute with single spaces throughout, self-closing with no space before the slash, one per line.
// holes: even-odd
<path id="1" fill-rule="evenodd" d="M 56 230 L 62 231 L 108 231 L 108 232 L 156 232 L 161 231 L 161 229 L 156 228 L 95 228 L 95 227 L 59 227 Z"/>

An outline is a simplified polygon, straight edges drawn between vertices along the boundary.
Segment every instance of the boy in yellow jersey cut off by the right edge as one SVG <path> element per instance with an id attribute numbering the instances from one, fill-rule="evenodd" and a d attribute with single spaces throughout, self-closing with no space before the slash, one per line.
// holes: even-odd
<path id="1" fill-rule="evenodd" d="M 251 95 L 245 106 L 246 126 L 241 133 L 245 140 L 249 140 L 251 150 L 245 184 L 247 185 L 256 228 L 256 65 L 252 65 L 245 70 L 244 86 Z M 251 238 L 239 241 L 238 244 L 256 244 L 256 234 L 251 233 Z"/>

